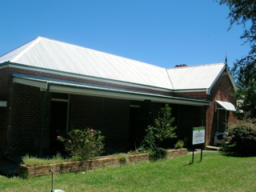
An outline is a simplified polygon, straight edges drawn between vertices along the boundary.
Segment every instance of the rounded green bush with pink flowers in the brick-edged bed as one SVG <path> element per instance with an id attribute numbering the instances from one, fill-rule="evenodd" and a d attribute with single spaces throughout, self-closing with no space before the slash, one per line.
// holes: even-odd
<path id="1" fill-rule="evenodd" d="M 64 143 L 66 150 L 74 161 L 86 161 L 102 154 L 104 137 L 101 131 L 86 128 L 85 130 L 71 130 L 67 138 L 58 136 Z"/>

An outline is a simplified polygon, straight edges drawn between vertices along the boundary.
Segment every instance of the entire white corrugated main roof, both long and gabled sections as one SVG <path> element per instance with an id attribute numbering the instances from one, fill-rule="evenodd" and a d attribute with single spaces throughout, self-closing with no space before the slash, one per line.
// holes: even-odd
<path id="1" fill-rule="evenodd" d="M 209 89 L 225 68 L 216 63 L 165 69 L 42 37 L 0 58 L 7 61 L 168 90 Z"/>

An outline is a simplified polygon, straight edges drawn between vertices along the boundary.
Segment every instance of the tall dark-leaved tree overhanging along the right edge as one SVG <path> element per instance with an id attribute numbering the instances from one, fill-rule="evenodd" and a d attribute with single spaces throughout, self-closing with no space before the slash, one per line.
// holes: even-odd
<path id="1" fill-rule="evenodd" d="M 256 117 L 256 2 L 255 0 L 217 0 L 220 5 L 230 8 L 230 28 L 234 23 L 245 28 L 242 36 L 244 44 L 250 46 L 246 57 L 237 60 L 232 74 L 237 82 L 238 90 L 234 96 L 239 101 L 238 110 L 242 110 L 246 118 Z M 229 29 L 230 29 L 229 28 Z"/>

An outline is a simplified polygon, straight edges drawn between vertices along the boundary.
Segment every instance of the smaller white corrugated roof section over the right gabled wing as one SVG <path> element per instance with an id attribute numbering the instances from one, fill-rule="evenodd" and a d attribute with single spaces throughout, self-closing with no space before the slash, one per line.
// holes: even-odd
<path id="1" fill-rule="evenodd" d="M 226 68 L 225 63 L 168 69 L 174 90 L 208 89 Z"/>

